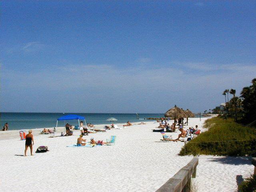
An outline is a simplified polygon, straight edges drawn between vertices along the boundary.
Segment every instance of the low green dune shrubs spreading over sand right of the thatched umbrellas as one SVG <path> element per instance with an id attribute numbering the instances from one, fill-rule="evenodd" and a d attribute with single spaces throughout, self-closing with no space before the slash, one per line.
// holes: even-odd
<path id="1" fill-rule="evenodd" d="M 220 117 L 206 120 L 204 126 L 209 127 L 209 130 L 188 142 L 179 155 L 255 156 L 255 128 L 238 124 L 231 118 Z"/>

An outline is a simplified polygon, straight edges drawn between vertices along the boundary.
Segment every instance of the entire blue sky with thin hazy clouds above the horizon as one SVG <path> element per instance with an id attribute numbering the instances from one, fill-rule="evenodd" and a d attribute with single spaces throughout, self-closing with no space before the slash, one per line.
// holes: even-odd
<path id="1" fill-rule="evenodd" d="M 253 1 L 2 1 L 2 112 L 193 112 L 256 77 Z"/>

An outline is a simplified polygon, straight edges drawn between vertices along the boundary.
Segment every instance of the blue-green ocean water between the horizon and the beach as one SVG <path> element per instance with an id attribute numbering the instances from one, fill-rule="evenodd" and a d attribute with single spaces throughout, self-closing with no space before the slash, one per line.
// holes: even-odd
<path id="1" fill-rule="evenodd" d="M 0 126 L 1 129 L 6 122 L 9 124 L 8 130 L 22 130 L 22 129 L 35 129 L 35 128 L 48 128 L 56 127 L 57 118 L 68 115 L 70 113 L 0 113 Z M 106 121 L 110 117 L 116 118 L 118 121 L 115 123 L 126 123 L 130 122 L 142 122 L 150 121 L 144 120 L 144 118 L 160 118 L 164 114 L 136 114 L 130 113 L 72 113 L 85 117 L 86 123 L 91 124 L 110 124 Z M 152 121 L 152 120 L 151 120 Z M 64 126 L 64 124 L 69 123 L 73 126 L 78 125 L 78 120 L 68 120 L 68 121 L 58 121 L 58 126 Z"/>

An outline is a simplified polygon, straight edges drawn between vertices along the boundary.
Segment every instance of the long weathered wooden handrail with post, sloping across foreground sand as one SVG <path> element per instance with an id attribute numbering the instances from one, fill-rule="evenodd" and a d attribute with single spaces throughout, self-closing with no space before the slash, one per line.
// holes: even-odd
<path id="1" fill-rule="evenodd" d="M 156 192 L 190 192 L 191 178 L 196 178 L 197 165 L 198 158 L 194 157 Z"/>

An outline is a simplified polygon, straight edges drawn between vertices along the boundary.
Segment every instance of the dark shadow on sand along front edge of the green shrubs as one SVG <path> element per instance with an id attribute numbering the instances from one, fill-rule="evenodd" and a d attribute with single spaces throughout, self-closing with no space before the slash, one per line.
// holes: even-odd
<path id="1" fill-rule="evenodd" d="M 216 158 L 209 158 L 211 162 L 220 162 L 223 164 L 230 164 L 230 165 L 251 165 L 251 158 L 250 157 L 216 157 Z"/>

